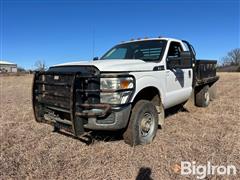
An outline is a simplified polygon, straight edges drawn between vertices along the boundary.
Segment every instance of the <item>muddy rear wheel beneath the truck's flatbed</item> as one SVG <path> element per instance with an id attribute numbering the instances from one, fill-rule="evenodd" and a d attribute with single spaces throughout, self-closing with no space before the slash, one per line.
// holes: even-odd
<path id="1" fill-rule="evenodd" d="M 207 107 L 210 103 L 209 86 L 206 85 L 196 93 L 196 106 Z"/>

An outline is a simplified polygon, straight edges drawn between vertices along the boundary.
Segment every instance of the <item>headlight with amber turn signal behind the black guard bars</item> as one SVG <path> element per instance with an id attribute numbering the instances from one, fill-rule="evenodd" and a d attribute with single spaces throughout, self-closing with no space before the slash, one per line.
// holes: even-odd
<path id="1" fill-rule="evenodd" d="M 134 88 L 132 77 L 126 78 L 101 78 L 101 103 L 124 104 Z M 115 92 L 104 92 L 114 90 Z M 118 91 L 120 90 L 120 91 Z"/>

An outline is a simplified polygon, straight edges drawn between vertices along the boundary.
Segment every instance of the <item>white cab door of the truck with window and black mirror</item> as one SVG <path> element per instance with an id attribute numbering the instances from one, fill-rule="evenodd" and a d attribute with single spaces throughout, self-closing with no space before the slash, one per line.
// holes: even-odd
<path id="1" fill-rule="evenodd" d="M 180 42 L 172 41 L 166 58 L 166 99 L 168 107 L 186 101 L 192 92 L 191 58 Z M 181 56 L 183 55 L 183 57 Z"/>

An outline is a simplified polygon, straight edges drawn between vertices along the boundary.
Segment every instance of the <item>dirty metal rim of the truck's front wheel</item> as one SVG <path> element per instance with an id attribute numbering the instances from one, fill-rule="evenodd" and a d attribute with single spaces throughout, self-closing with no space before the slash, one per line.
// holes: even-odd
<path id="1" fill-rule="evenodd" d="M 144 113 L 140 124 L 140 132 L 142 137 L 147 137 L 154 130 L 154 117 L 150 113 Z"/>

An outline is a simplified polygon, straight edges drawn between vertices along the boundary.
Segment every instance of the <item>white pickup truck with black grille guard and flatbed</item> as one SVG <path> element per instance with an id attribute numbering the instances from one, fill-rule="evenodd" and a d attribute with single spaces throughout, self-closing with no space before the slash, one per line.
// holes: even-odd
<path id="1" fill-rule="evenodd" d="M 138 39 L 111 48 L 100 59 L 36 72 L 37 122 L 81 136 L 123 130 L 130 145 L 150 143 L 167 108 L 190 98 L 206 107 L 214 98 L 216 61 L 196 60 L 193 47 L 171 38 Z"/>

